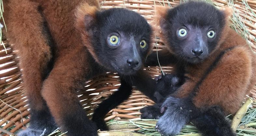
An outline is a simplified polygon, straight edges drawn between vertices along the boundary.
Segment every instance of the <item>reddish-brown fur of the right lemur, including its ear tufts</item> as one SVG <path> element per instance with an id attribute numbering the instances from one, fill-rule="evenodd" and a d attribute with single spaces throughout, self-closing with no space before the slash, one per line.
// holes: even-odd
<path id="1" fill-rule="evenodd" d="M 157 26 L 161 25 L 161 19 L 165 19 L 168 9 L 167 7 L 156 8 L 155 22 Z M 229 22 L 231 10 L 229 8 L 222 10 L 225 13 L 226 22 Z M 165 34 L 165 30 L 162 31 L 160 37 L 165 40 L 168 35 Z M 169 46 L 167 45 L 167 48 Z M 185 68 L 188 80 L 179 88 L 176 96 L 188 96 L 218 54 L 230 47 L 235 48 L 227 51 L 218 62 L 217 67 L 206 76 L 193 98 L 193 103 L 196 107 L 219 105 L 227 114 L 235 113 L 240 108 L 243 98 L 255 85 L 256 58 L 246 40 L 232 30 L 229 23 L 224 27 L 215 51 L 203 63 Z M 170 48 L 168 50 L 173 52 Z"/>

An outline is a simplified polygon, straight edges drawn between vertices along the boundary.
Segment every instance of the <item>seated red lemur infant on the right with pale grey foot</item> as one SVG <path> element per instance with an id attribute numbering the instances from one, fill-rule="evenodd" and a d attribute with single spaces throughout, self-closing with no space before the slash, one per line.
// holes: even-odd
<path id="1" fill-rule="evenodd" d="M 176 68 L 156 78 L 159 103 L 141 109 L 141 118 L 159 118 L 156 130 L 164 135 L 178 134 L 189 121 L 205 136 L 235 135 L 225 115 L 235 114 L 255 85 L 256 55 L 229 27 L 230 9 L 190 1 L 156 10 L 166 45 L 158 51 L 159 62 Z M 147 63 L 156 58 L 152 53 Z"/>

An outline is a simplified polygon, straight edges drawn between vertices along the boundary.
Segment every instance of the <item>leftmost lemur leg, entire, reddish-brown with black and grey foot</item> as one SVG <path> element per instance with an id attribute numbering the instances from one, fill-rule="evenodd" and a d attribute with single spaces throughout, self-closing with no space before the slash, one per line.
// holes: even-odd
<path id="1" fill-rule="evenodd" d="M 6 36 L 20 57 L 22 79 L 30 108 L 30 126 L 19 136 L 49 134 L 57 128 L 43 97 L 42 83 L 51 60 L 50 43 L 38 5 L 27 0 L 3 1 Z"/>

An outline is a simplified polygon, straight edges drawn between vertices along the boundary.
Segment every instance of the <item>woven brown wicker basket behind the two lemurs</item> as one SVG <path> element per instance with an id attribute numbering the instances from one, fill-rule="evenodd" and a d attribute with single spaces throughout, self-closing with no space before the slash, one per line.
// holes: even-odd
<path id="1" fill-rule="evenodd" d="M 137 11 L 146 17 L 149 23 L 153 21 L 155 5 L 176 6 L 180 4 L 179 0 L 100 0 L 100 2 L 101 6 L 104 8 L 126 7 Z M 232 19 L 234 21 L 232 27 L 236 28 L 255 50 L 256 1 L 213 0 L 212 2 L 218 7 L 232 6 L 233 9 L 235 9 L 234 15 L 236 17 Z M 252 13 L 254 13 L 254 15 Z M 244 26 L 238 26 L 237 24 L 239 22 L 244 24 Z M 3 38 L 3 41 L 5 47 L 0 46 L 2 50 L 0 51 L 0 126 L 3 126 L 2 129 L 4 130 L 0 130 L 0 132 L 2 131 L 0 136 L 1 134 L 7 135 L 14 133 L 21 128 L 25 129 L 25 125 L 29 122 L 26 96 L 23 93 L 22 74 L 15 51 L 13 51 L 12 45 L 8 44 L 6 38 Z M 163 46 L 163 43 L 160 41 L 158 47 L 161 49 Z M 159 67 L 146 67 L 145 69 L 152 76 L 160 74 Z M 163 67 L 163 70 L 168 73 L 171 71 L 171 67 Z M 93 113 L 93 109 L 97 106 L 97 103 L 106 99 L 113 91 L 116 91 L 119 85 L 119 76 L 115 73 L 108 73 L 107 75 L 99 76 L 88 81 L 88 85 L 80 92 L 79 98 L 89 118 L 91 118 L 91 114 Z M 251 95 L 256 97 L 256 86 L 251 91 Z M 105 120 L 139 118 L 140 113 L 138 110 L 152 104 L 152 100 L 135 89 L 127 101 L 123 102 L 115 109 L 112 109 L 107 114 Z"/>

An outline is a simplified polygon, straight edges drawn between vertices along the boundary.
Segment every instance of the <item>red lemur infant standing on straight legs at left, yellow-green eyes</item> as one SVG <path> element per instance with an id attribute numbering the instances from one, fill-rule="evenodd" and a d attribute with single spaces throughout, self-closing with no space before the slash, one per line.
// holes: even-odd
<path id="1" fill-rule="evenodd" d="M 132 85 L 154 99 L 155 82 L 141 68 L 152 31 L 138 13 L 100 10 L 97 0 L 3 2 L 6 36 L 20 56 L 31 114 L 30 126 L 19 136 L 38 136 L 45 129 L 48 135 L 57 126 L 68 136 L 97 135 L 107 129 L 105 114 L 128 98 Z M 92 122 L 78 91 L 109 71 L 120 74 L 121 86 L 95 110 Z"/>

